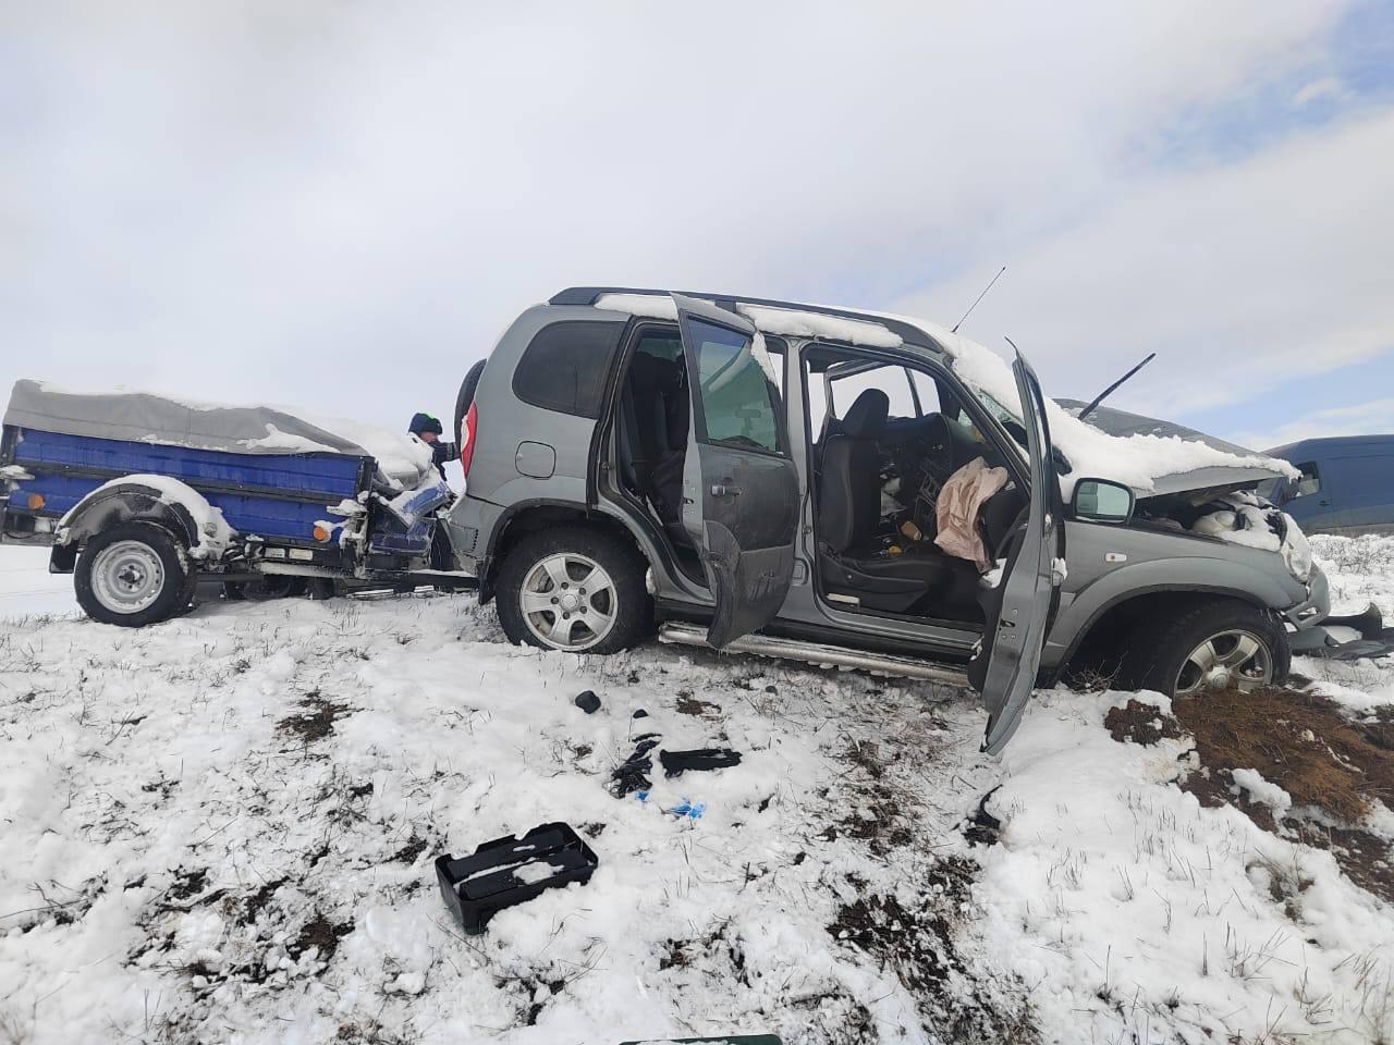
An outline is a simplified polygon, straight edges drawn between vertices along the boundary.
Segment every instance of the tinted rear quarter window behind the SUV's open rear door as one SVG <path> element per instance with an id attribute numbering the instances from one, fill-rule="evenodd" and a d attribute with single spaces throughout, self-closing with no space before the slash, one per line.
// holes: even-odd
<path id="1" fill-rule="evenodd" d="M 537 332 L 513 372 L 513 394 L 544 410 L 599 417 L 623 323 L 572 320 Z"/>

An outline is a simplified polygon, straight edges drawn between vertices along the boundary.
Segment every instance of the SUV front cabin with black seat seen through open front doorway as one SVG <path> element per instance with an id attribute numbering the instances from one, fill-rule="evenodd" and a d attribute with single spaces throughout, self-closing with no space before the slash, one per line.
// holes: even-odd
<path id="1" fill-rule="evenodd" d="M 952 390 L 927 372 L 855 350 L 804 353 L 818 577 L 845 609 L 981 624 L 977 563 L 935 545 L 944 483 L 981 457 L 1004 464 Z M 988 562 L 1006 556 L 1026 507 L 1008 481 L 973 525 Z"/>

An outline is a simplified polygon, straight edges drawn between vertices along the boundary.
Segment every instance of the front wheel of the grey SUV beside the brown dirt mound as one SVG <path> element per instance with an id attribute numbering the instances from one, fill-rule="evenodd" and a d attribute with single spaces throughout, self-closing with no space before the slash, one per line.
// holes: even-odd
<path id="1" fill-rule="evenodd" d="M 1253 653 L 1248 653 L 1249 644 Z M 1193 655 L 1199 656 L 1193 660 Z M 1207 660 L 1213 666 L 1204 672 Z M 1274 614 L 1236 599 L 1213 599 L 1160 624 L 1142 621 L 1128 640 L 1119 683 L 1167 697 L 1203 697 L 1235 684 L 1241 690 L 1281 686 L 1291 660 L 1287 631 Z"/>

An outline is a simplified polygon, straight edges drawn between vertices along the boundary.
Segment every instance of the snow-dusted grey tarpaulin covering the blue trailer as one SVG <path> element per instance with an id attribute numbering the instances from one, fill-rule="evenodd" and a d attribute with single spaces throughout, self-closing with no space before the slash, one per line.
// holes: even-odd
<path id="1" fill-rule="evenodd" d="M 223 453 L 372 457 L 389 483 L 408 489 L 429 478 L 432 468 L 431 447 L 376 425 L 289 407 L 198 403 L 149 392 L 86 393 L 17 380 L 4 424 Z"/>

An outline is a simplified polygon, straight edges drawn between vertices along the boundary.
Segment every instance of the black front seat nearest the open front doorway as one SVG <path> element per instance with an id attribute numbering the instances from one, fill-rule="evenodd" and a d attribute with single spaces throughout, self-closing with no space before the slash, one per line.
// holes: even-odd
<path id="1" fill-rule="evenodd" d="M 977 570 L 931 545 L 888 555 L 878 539 L 881 450 L 891 400 L 867 389 L 842 418 L 822 450 L 818 483 L 818 570 L 824 589 L 838 601 L 903 613 L 933 591 L 952 598 L 972 592 Z"/>

